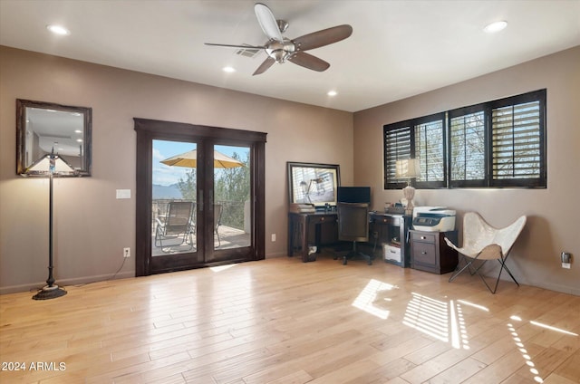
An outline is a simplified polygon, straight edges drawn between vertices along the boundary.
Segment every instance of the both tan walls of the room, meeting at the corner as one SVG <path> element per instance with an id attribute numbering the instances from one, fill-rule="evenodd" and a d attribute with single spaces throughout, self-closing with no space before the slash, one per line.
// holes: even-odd
<path id="1" fill-rule="evenodd" d="M 287 240 L 286 161 L 340 164 L 343 185 L 372 186 L 381 209 L 401 197 L 382 189 L 382 125 L 547 88 L 547 189 L 418 190 L 416 202 L 477 210 L 495 226 L 527 215 L 510 261 L 520 283 L 580 294 L 577 62 L 580 47 L 353 115 L 0 47 L 0 293 L 42 285 L 48 258 L 48 183 L 15 175 L 15 99 L 93 109 L 92 178 L 54 186 L 56 277 L 82 283 L 110 278 L 122 248 L 134 249 L 133 117 L 267 132 L 266 256 L 275 256 Z M 133 198 L 115 199 L 121 188 Z M 575 256 L 571 270 L 560 268 L 562 250 Z M 120 275 L 133 274 L 131 258 Z"/>

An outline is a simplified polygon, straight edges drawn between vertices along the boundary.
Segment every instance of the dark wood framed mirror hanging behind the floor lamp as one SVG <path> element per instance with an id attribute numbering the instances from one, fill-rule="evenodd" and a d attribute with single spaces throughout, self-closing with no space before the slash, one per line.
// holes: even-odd
<path id="1" fill-rule="evenodd" d="M 16 174 L 52 151 L 74 168 L 73 176 L 91 176 L 92 109 L 17 99 Z"/>

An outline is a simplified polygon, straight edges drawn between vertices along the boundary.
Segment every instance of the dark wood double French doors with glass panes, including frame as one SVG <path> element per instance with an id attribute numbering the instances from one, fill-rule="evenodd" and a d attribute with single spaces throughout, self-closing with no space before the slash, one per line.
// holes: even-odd
<path id="1" fill-rule="evenodd" d="M 266 134 L 135 119 L 136 274 L 264 258 Z"/>

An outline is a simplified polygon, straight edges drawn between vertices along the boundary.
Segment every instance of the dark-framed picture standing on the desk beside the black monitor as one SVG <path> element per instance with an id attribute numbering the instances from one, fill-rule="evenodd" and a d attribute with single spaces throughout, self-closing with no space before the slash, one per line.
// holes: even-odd
<path id="1" fill-rule="evenodd" d="M 340 166 L 290 161 L 286 164 L 290 204 L 336 206 L 336 190 L 341 185 Z"/>

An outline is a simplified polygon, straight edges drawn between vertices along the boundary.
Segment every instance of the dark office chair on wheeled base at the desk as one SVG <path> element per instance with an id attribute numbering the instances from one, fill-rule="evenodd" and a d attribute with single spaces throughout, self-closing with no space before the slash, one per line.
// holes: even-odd
<path id="1" fill-rule="evenodd" d="M 362 257 L 372 264 L 372 257 L 357 249 L 357 242 L 369 241 L 369 205 L 367 203 L 338 203 L 338 239 L 353 242 L 353 248 L 343 256 L 343 265 L 349 259 Z M 334 260 L 338 258 L 334 255 Z"/>

